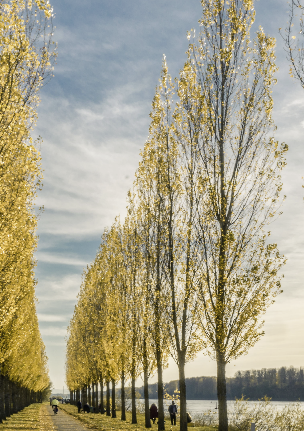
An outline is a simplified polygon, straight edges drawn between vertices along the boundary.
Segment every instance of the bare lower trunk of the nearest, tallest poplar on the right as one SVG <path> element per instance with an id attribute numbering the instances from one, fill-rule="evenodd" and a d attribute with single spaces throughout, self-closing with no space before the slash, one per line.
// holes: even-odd
<path id="1" fill-rule="evenodd" d="M 228 431 L 228 415 L 226 400 L 226 362 L 217 352 L 217 400 L 218 400 L 218 431 Z"/>

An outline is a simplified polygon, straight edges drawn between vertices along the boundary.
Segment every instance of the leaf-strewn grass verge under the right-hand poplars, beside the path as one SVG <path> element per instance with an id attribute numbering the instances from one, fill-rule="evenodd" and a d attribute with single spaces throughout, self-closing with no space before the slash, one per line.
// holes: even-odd
<path id="1" fill-rule="evenodd" d="M 131 424 L 131 413 L 126 412 L 126 421 L 120 420 L 120 412 L 117 412 L 117 418 L 111 418 L 110 416 L 93 414 L 93 413 L 77 413 L 77 407 L 69 404 L 63 404 L 59 406 L 64 412 L 80 420 L 87 428 L 102 430 L 102 431 L 146 431 L 145 428 L 145 416 L 143 414 L 137 414 L 137 424 Z M 178 431 L 179 422 L 176 426 L 166 424 L 165 428 L 168 431 Z M 157 431 L 157 425 L 152 424 L 152 431 Z M 188 428 L 192 430 L 192 428 Z M 217 431 L 217 427 L 194 427 L 195 431 Z M 1 430 L 0 430 L 1 431 Z"/>

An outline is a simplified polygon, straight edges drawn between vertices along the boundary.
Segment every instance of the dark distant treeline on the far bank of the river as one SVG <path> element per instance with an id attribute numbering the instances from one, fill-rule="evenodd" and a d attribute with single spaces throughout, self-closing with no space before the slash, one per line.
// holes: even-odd
<path id="1" fill-rule="evenodd" d="M 227 400 L 241 398 L 242 394 L 250 400 L 271 397 L 276 401 L 304 401 L 303 367 L 263 368 L 261 370 L 237 371 L 227 381 Z M 178 387 L 178 380 L 164 384 L 168 394 Z M 143 386 L 136 388 L 143 398 Z M 186 378 L 187 400 L 217 400 L 217 379 L 211 377 Z M 157 383 L 149 384 L 149 398 L 157 399 Z"/>

